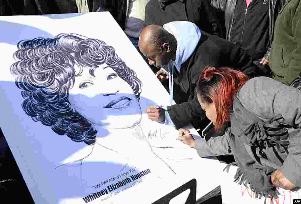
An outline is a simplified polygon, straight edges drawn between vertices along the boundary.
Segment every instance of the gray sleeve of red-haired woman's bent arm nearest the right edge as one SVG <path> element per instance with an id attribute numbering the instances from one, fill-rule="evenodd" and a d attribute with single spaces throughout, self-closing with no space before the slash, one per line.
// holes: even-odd
<path id="1" fill-rule="evenodd" d="M 281 169 L 290 182 L 301 187 L 301 91 L 268 77 L 256 77 L 240 89 L 238 98 L 259 118 L 281 114 L 279 122 L 297 128 L 290 133 L 289 154 Z"/>

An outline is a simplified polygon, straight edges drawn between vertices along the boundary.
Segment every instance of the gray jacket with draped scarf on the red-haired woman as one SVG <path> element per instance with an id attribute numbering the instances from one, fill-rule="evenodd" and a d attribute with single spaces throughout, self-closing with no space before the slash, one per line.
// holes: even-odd
<path id="1" fill-rule="evenodd" d="M 236 99 L 231 128 L 207 142 L 197 139 L 199 156 L 233 154 L 240 167 L 281 169 L 301 187 L 301 91 L 268 77 L 255 77 L 237 92 Z"/>

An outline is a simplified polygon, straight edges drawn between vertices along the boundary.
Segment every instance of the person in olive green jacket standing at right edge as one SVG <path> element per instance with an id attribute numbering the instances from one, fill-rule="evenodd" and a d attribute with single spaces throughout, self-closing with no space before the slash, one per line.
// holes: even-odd
<path id="1" fill-rule="evenodd" d="M 286 85 L 301 72 L 301 1 L 287 0 L 275 23 L 269 65 L 273 79 Z"/>

